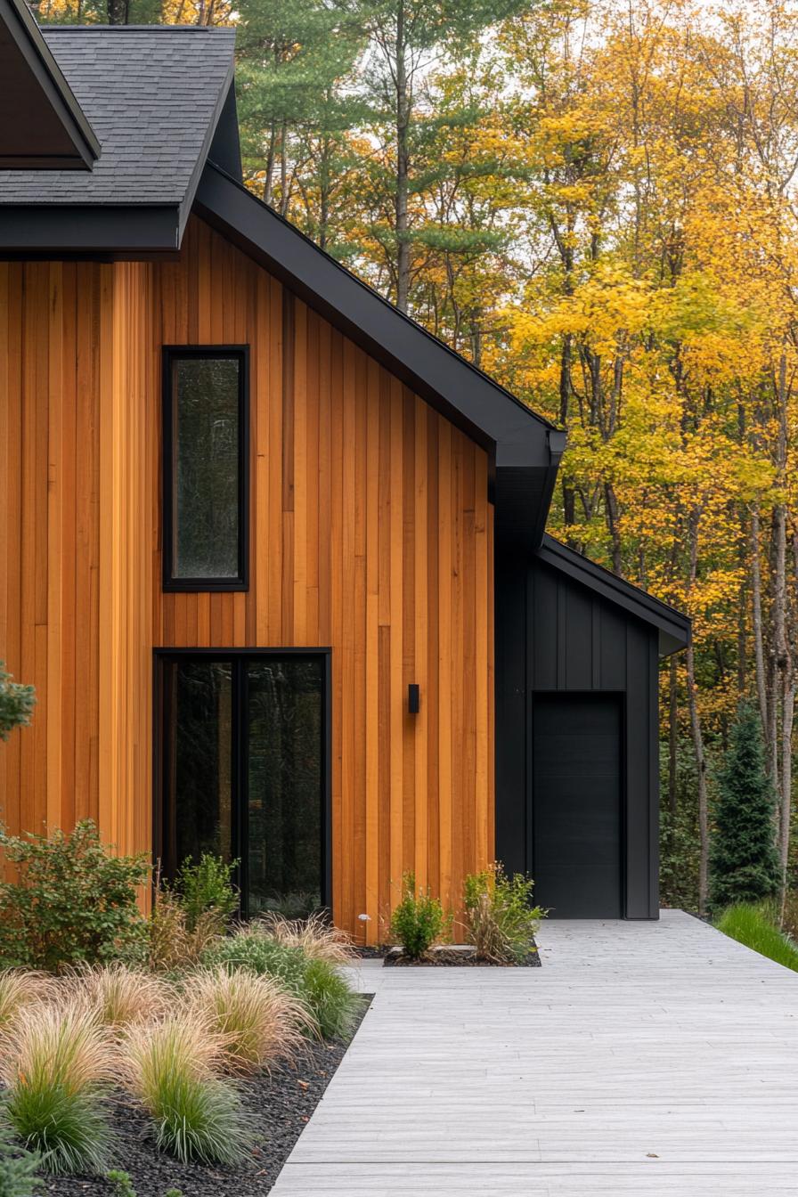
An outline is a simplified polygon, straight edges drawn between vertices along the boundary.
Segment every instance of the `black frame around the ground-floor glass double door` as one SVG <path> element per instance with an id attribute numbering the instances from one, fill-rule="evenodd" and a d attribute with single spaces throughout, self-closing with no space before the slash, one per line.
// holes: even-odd
<path id="1" fill-rule="evenodd" d="M 306 648 L 257 648 L 257 649 L 218 649 L 218 648 L 181 648 L 153 649 L 153 753 L 152 753 L 152 858 L 153 865 L 158 868 L 163 857 L 166 839 L 165 824 L 165 770 L 166 757 L 164 754 L 164 688 L 162 685 L 164 670 L 163 666 L 167 661 L 188 657 L 193 660 L 211 661 L 240 661 L 243 658 L 257 657 L 305 657 L 322 663 L 322 906 L 328 912 L 333 907 L 333 669 L 330 648 L 306 649 Z M 232 691 L 232 718 L 233 718 L 233 796 L 236 808 L 234 832 L 237 838 L 236 851 L 240 864 L 238 868 L 237 885 L 242 894 L 243 903 L 246 901 L 246 852 L 245 852 L 245 828 L 244 809 L 246 807 L 246 777 L 244 774 L 246 758 L 246 733 L 242 712 L 245 703 L 246 678 L 243 669 L 233 673 L 234 685 Z M 237 730 L 236 730 L 237 729 Z M 242 909 L 243 917 L 248 911 Z"/>

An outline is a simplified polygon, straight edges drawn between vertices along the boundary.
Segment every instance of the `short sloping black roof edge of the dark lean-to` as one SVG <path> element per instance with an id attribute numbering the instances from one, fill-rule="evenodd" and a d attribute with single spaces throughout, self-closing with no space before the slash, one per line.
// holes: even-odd
<path id="1" fill-rule="evenodd" d="M 608 602 L 621 607 L 629 615 L 656 627 L 659 632 L 660 656 L 665 657 L 671 652 L 677 652 L 690 643 L 692 624 L 688 615 L 646 594 L 645 590 L 631 582 L 616 577 L 602 565 L 597 565 L 590 558 L 583 557 L 581 553 L 568 548 L 567 545 L 562 545 L 554 536 L 543 536 L 543 542 L 535 557 L 536 560 L 559 570 Z"/>

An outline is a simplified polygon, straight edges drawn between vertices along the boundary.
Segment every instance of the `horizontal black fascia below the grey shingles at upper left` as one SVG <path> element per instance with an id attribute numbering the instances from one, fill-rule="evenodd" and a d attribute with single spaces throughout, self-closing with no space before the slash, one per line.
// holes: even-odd
<path id="1" fill-rule="evenodd" d="M 0 259 L 176 254 L 177 205 L 10 205 L 0 208 Z"/>

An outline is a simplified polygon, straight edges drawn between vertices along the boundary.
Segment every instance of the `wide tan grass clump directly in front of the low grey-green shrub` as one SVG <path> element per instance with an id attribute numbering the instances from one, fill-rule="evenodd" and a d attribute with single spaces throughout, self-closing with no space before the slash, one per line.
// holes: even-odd
<path id="1" fill-rule="evenodd" d="M 307 1009 L 272 977 L 225 968 L 195 973 L 185 1007 L 224 1040 L 227 1071 L 246 1074 L 291 1058 L 304 1043 Z"/>

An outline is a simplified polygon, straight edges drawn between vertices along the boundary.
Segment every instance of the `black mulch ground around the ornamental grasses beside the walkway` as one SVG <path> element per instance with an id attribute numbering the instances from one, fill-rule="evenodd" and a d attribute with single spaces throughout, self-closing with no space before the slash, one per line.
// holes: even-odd
<path id="1" fill-rule="evenodd" d="M 371 997 L 364 995 L 361 1002 L 358 1026 Z M 123 1096 L 111 1107 L 118 1136 L 111 1167 L 129 1172 L 139 1197 L 163 1197 L 169 1189 L 179 1189 L 183 1197 L 264 1197 L 343 1059 L 348 1043 L 309 1044 L 294 1068 L 240 1083 L 244 1105 L 257 1128 L 257 1146 L 244 1167 L 183 1165 L 170 1155 L 159 1154 L 146 1117 Z M 114 1186 L 98 1177 L 47 1177 L 42 1192 L 60 1197 L 105 1197 L 114 1192 Z"/>

